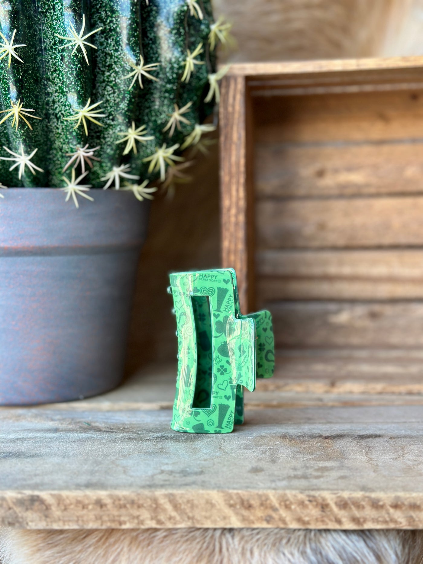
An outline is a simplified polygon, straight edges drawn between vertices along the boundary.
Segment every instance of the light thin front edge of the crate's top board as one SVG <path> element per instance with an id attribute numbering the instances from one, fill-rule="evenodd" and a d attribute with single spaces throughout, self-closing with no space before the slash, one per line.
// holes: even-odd
<path id="1" fill-rule="evenodd" d="M 221 66 L 223 67 L 224 65 Z M 275 76 L 277 74 L 395 70 L 403 68 L 423 68 L 423 56 L 281 61 L 277 63 L 232 63 L 226 76 L 254 78 Z"/>

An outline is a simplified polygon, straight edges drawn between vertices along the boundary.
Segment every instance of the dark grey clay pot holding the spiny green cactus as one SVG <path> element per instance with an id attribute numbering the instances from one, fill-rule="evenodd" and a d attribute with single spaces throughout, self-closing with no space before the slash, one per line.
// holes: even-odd
<path id="1" fill-rule="evenodd" d="M 52 188 L 0 200 L 0 405 L 63 402 L 118 385 L 148 202 Z"/>

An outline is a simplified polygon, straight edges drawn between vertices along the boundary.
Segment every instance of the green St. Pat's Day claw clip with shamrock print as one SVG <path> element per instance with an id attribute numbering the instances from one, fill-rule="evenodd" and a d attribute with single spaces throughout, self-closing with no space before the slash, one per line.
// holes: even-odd
<path id="1" fill-rule="evenodd" d="M 269 311 L 241 315 L 233 268 L 170 275 L 178 325 L 178 378 L 171 428 L 231 433 L 244 422 L 244 387 L 275 368 Z"/>

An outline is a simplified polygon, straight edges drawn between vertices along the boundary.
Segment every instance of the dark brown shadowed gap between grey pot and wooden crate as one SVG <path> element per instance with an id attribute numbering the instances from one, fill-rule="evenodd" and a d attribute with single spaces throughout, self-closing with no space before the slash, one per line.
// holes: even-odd
<path id="1" fill-rule="evenodd" d="M 176 187 L 173 199 L 157 197 L 151 206 L 147 242 L 143 247 L 130 328 L 126 372 L 151 360 L 176 358 L 175 317 L 166 292 L 170 271 L 219 266 L 218 148 L 199 155 L 192 184 Z"/>

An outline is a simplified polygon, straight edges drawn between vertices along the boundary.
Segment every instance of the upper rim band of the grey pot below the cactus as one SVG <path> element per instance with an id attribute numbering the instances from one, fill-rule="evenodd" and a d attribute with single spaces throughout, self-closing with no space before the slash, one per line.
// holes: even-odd
<path id="1" fill-rule="evenodd" d="M 60 188 L 7 188 L 0 200 L 0 254 L 34 248 L 141 246 L 149 202 L 130 191 L 90 191 L 65 201 Z"/>

